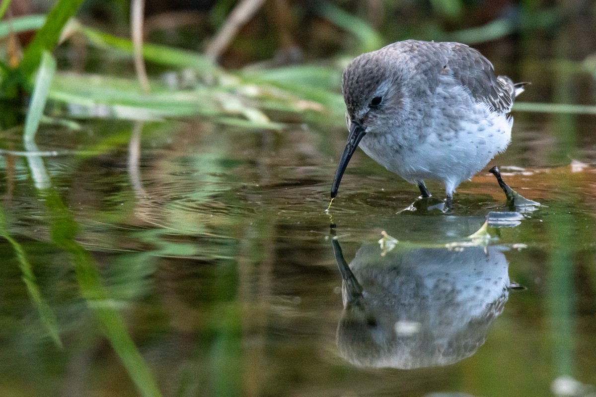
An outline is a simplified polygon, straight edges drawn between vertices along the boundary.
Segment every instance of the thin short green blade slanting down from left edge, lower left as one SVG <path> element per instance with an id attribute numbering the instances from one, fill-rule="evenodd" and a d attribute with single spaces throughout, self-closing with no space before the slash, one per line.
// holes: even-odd
<path id="1" fill-rule="evenodd" d="M 33 267 L 31 266 L 29 260 L 27 260 L 23 247 L 17 242 L 17 240 L 13 239 L 13 236 L 11 236 L 8 232 L 7 220 L 2 207 L 0 207 L 0 236 L 4 237 L 4 239 L 6 239 L 11 246 L 13 246 L 15 254 L 17 254 L 18 267 L 23 274 L 21 278 L 27 287 L 27 293 L 29 293 L 31 302 L 39 313 L 41 323 L 44 325 L 48 335 L 52 338 L 52 340 L 54 340 L 54 343 L 58 347 L 62 348 L 62 341 L 60 340 L 60 333 L 58 333 L 58 320 L 56 319 L 56 315 L 49 305 L 44 301 L 44 298 L 41 295 L 41 291 L 39 290 L 37 281 L 35 279 L 35 274 L 33 274 Z"/>

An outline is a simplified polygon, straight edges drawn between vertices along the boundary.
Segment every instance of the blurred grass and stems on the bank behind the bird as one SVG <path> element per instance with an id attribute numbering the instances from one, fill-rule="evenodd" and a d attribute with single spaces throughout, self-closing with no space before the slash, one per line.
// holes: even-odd
<path id="1" fill-rule="evenodd" d="M 0 15 L 0 98 L 14 110 L 1 117 L 5 129 L 22 120 L 44 51 L 56 58 L 57 74 L 46 77 L 48 107 L 29 108 L 42 122 L 45 111 L 79 119 L 198 115 L 268 129 L 339 125 L 343 67 L 408 38 L 473 45 L 517 81 L 545 67 L 545 79 L 579 73 L 593 84 L 596 74 L 589 1 L 4 0 Z M 594 98 L 582 97 L 592 90 L 563 98 L 588 106 L 548 107 L 553 85 L 533 83 L 524 99 L 547 103 L 519 109 L 596 112 Z"/>

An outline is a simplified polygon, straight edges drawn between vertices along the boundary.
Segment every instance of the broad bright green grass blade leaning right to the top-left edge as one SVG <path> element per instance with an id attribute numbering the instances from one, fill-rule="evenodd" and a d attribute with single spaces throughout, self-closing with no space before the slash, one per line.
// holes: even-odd
<path id="1" fill-rule="evenodd" d="M 29 79 L 35 71 L 42 53 L 52 51 L 58 44 L 64 25 L 75 15 L 82 2 L 83 0 L 58 0 L 54 8 L 49 11 L 44 26 L 35 33 L 33 40 L 23 52 L 23 60 L 18 68 L 25 79 Z"/>

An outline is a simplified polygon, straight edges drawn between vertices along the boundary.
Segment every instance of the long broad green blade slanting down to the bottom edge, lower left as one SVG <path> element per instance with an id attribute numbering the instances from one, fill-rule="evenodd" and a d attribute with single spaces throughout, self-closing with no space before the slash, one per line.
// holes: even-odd
<path id="1" fill-rule="evenodd" d="M 79 243 L 75 236 L 78 225 L 73 220 L 60 196 L 52 191 L 43 195 L 49 210 L 52 242 L 69 254 L 81 295 L 94 313 L 101 330 L 116 354 L 122 360 L 138 392 L 143 397 L 161 397 L 162 393 L 151 371 L 126 330 L 125 322 L 114 308 L 105 287 L 101 283 L 98 264 Z"/>

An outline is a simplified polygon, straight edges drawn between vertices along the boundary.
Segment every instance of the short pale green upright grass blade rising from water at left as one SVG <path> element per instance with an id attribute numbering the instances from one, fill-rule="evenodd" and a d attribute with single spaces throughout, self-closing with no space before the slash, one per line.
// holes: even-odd
<path id="1" fill-rule="evenodd" d="M 35 78 L 35 87 L 33 88 L 33 95 L 27 110 L 25 118 L 25 129 L 23 140 L 25 142 L 33 142 L 35 133 L 39 127 L 39 121 L 44 114 L 45 102 L 48 100 L 49 87 L 54 79 L 56 71 L 56 60 L 49 52 L 44 51 L 41 64 L 39 65 L 38 75 Z"/>

